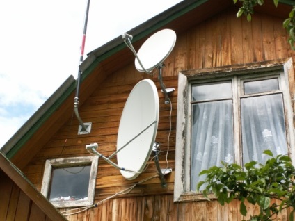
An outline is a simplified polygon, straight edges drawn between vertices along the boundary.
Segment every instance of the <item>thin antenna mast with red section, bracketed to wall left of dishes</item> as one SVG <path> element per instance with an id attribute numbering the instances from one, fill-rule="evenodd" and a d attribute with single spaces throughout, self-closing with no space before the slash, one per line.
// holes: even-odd
<path id="1" fill-rule="evenodd" d="M 85 47 L 85 41 L 86 41 L 86 31 L 87 31 L 87 22 L 88 22 L 88 13 L 89 13 L 89 6 L 90 6 L 90 0 L 87 1 L 86 6 L 86 15 L 84 20 L 84 27 L 83 27 L 83 37 L 82 37 L 82 44 L 81 44 L 81 54 L 80 54 L 80 62 L 79 65 L 83 62 L 83 56 L 84 56 L 84 47 Z M 74 97 L 74 113 L 76 114 L 76 117 L 80 123 L 78 134 L 85 134 L 90 133 L 91 131 L 91 123 L 83 123 L 81 120 L 81 117 L 79 115 L 78 106 L 79 106 L 79 90 L 80 90 L 80 81 L 81 81 L 81 70 L 78 71 L 78 77 L 77 77 L 77 89 L 76 89 L 76 96 Z"/>

